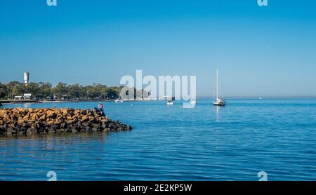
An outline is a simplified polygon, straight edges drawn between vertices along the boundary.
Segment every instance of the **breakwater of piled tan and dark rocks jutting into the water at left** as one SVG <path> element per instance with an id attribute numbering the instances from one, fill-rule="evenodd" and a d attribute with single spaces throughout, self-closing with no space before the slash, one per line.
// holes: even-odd
<path id="1" fill-rule="evenodd" d="M 0 135 L 111 132 L 131 130 L 94 109 L 0 109 Z"/>

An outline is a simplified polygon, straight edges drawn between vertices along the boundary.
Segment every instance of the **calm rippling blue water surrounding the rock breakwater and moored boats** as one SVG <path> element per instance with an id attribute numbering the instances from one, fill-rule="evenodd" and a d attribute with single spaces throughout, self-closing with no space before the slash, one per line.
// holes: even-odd
<path id="1" fill-rule="evenodd" d="M 131 132 L 0 138 L 0 180 L 316 180 L 316 100 L 105 102 Z M 96 102 L 5 105 L 92 108 Z"/>

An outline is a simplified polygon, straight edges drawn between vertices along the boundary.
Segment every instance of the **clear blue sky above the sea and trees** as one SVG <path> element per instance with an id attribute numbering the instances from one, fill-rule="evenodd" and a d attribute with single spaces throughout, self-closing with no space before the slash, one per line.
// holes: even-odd
<path id="1" fill-rule="evenodd" d="M 316 95 L 316 1 L 0 1 L 0 81 L 196 75 L 197 95 Z"/>

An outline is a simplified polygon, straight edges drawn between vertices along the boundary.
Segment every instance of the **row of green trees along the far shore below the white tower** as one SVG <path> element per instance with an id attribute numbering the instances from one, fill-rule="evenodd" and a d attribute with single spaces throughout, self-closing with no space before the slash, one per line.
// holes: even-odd
<path id="1" fill-rule="evenodd" d="M 20 83 L 11 81 L 10 83 L 0 82 L 0 99 L 13 100 L 15 96 L 22 96 L 25 93 L 31 93 L 32 98 L 37 100 L 114 100 L 119 98 L 119 92 L 123 86 L 108 87 L 103 84 L 93 83 L 88 86 L 81 86 L 78 83 L 67 85 L 67 83 L 58 83 L 53 86 L 51 83 Z M 143 93 L 144 90 L 134 88 L 134 96 L 137 93 Z M 146 95 L 146 97 L 148 97 Z"/>

